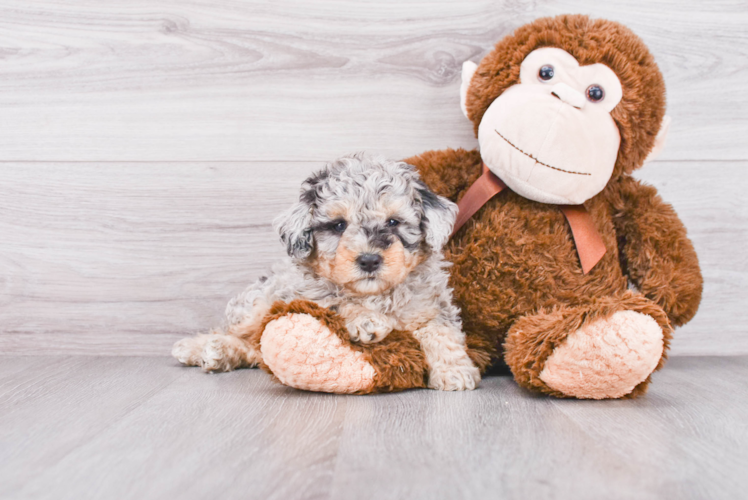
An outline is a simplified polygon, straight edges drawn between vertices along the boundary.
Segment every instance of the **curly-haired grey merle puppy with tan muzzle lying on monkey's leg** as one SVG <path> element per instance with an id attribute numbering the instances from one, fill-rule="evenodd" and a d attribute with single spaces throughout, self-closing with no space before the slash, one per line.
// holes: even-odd
<path id="1" fill-rule="evenodd" d="M 480 375 L 441 252 L 456 212 L 411 165 L 362 154 L 334 161 L 276 221 L 289 258 L 229 302 L 225 328 L 181 340 L 172 354 L 206 371 L 255 366 L 261 354 L 247 339 L 273 302 L 307 299 L 337 311 L 354 342 L 413 332 L 430 387 L 474 389 Z"/>

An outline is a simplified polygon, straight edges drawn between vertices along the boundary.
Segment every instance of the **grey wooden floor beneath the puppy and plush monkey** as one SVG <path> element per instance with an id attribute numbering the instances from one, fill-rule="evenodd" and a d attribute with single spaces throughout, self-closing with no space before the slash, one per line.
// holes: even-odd
<path id="1" fill-rule="evenodd" d="M 748 357 L 633 401 L 333 396 L 168 358 L 0 358 L 0 498 L 745 498 Z"/>

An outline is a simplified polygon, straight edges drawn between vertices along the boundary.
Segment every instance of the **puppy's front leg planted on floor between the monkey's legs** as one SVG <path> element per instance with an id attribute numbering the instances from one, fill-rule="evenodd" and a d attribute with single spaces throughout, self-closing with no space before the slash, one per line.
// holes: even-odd
<path id="1" fill-rule="evenodd" d="M 429 387 L 442 391 L 473 390 L 480 370 L 467 355 L 465 336 L 455 326 L 431 322 L 413 332 L 429 364 Z"/>

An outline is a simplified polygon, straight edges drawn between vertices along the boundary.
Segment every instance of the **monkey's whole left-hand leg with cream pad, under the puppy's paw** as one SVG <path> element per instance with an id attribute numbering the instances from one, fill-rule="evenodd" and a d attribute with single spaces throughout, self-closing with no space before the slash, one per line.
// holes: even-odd
<path id="1" fill-rule="evenodd" d="M 350 341 L 343 319 L 313 302 L 277 302 L 259 342 L 260 366 L 283 384 L 317 392 L 368 394 L 426 387 L 418 341 L 393 331 L 376 344 Z"/>

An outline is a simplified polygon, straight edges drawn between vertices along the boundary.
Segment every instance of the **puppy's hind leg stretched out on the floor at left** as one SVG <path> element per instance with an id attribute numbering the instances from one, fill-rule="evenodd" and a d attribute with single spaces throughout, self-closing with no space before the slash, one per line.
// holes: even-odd
<path id="1" fill-rule="evenodd" d="M 250 314 L 227 331 L 213 331 L 182 339 L 172 355 L 188 366 L 200 366 L 206 372 L 228 372 L 257 366 L 262 355 L 257 347 L 262 320 L 270 307 L 256 301 Z"/>

